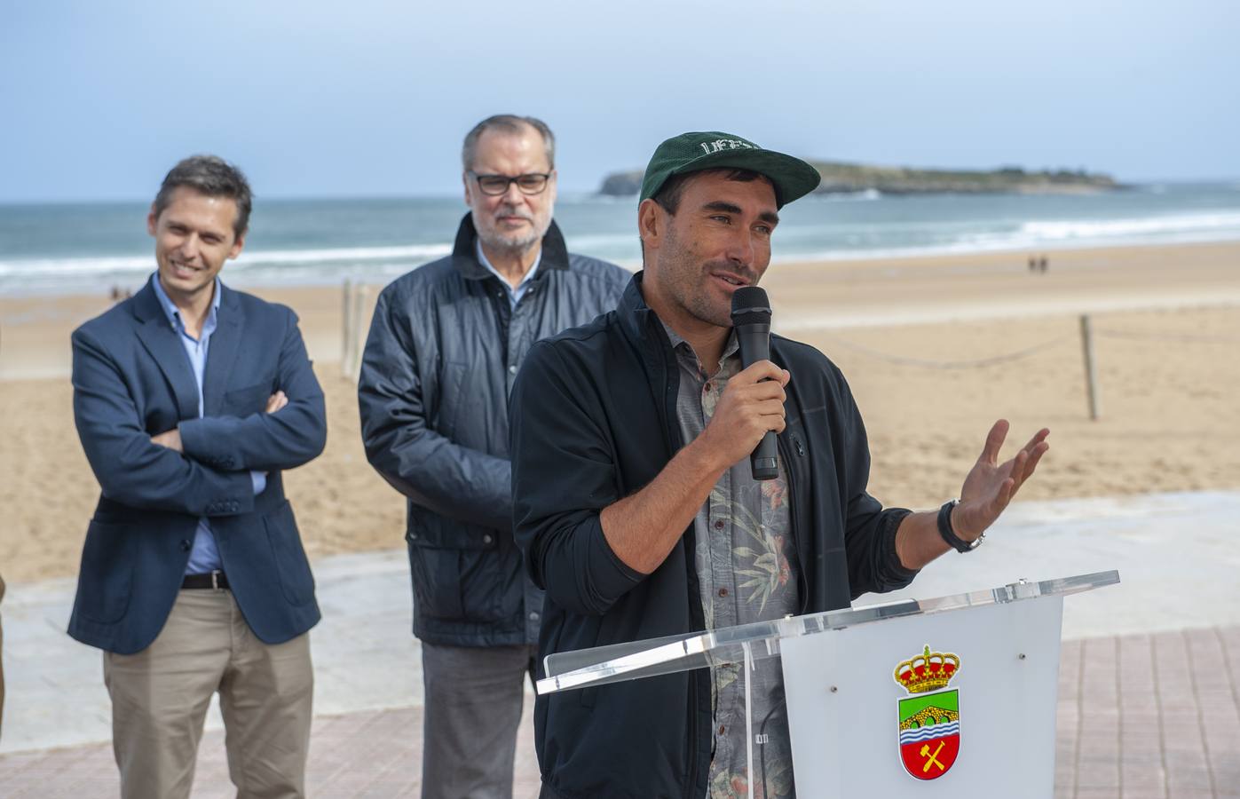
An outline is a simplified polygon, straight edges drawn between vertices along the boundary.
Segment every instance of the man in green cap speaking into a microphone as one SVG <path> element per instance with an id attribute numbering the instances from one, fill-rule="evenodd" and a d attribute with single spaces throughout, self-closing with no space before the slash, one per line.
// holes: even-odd
<path id="1" fill-rule="evenodd" d="M 960 502 L 884 509 L 843 376 L 780 336 L 740 368 L 732 294 L 771 257 L 779 210 L 818 184 L 799 159 L 724 133 L 668 139 L 642 181 L 644 270 L 620 306 L 536 345 L 513 387 L 516 537 L 546 587 L 543 655 L 848 607 L 976 547 L 1047 450 L 991 429 Z M 777 476 L 749 454 L 779 437 Z M 544 797 L 795 794 L 777 660 L 538 699 Z"/>

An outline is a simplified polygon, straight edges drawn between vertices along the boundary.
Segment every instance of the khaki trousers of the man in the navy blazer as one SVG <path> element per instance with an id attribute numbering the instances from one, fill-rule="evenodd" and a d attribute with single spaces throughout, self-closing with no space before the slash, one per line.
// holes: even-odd
<path id="1" fill-rule="evenodd" d="M 182 589 L 155 641 L 103 654 L 124 799 L 185 799 L 211 695 L 219 692 L 238 799 L 305 797 L 310 638 L 258 640 L 231 591 Z"/>

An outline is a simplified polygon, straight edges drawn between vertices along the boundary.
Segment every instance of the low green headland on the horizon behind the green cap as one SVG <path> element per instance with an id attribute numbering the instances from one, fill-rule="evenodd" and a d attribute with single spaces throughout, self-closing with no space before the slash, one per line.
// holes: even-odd
<path id="1" fill-rule="evenodd" d="M 909 169 L 839 161 L 810 161 L 822 184 L 815 194 L 879 191 L 885 195 L 923 194 L 1087 194 L 1123 189 L 1110 175 L 1085 170 L 1025 171 L 1019 166 L 993 170 Z M 641 170 L 611 172 L 600 195 L 624 197 L 641 190 Z"/>

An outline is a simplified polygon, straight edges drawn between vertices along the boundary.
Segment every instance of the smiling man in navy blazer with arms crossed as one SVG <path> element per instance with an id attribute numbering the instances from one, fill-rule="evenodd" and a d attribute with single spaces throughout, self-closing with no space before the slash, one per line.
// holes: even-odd
<path id="1" fill-rule="evenodd" d="M 250 192 L 193 156 L 148 217 L 157 270 L 73 333 L 73 417 L 102 495 L 69 634 L 104 650 L 126 798 L 188 797 L 212 694 L 238 797 L 303 797 L 314 578 L 280 473 L 322 452 L 298 318 L 226 288 Z"/>

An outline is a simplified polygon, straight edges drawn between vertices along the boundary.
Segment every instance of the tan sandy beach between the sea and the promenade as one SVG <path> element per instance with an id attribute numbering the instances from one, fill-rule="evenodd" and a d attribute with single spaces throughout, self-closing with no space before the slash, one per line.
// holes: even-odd
<path id="1" fill-rule="evenodd" d="M 1240 243 L 1048 254 L 1045 274 L 1029 273 L 1027 253 L 771 267 L 776 329 L 826 352 L 853 387 L 872 493 L 911 507 L 954 496 L 999 417 L 1022 442 L 1052 429 L 1018 501 L 1240 488 Z M 340 290 L 254 293 L 300 314 L 327 395 L 326 452 L 285 478 L 310 556 L 401 546 L 403 500 L 366 463 L 341 376 Z M 73 429 L 68 336 L 108 305 L 0 298 L 6 581 L 76 573 L 98 486 Z M 1095 333 L 1097 421 L 1080 314 Z"/>

